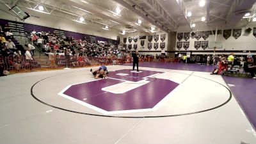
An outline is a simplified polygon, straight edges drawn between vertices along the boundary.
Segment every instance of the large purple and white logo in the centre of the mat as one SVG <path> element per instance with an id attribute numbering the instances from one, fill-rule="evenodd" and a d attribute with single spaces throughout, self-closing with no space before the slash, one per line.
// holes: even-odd
<path id="1" fill-rule="evenodd" d="M 59 95 L 105 115 L 152 111 L 179 84 L 150 70 L 109 72 L 108 79 L 72 84 Z"/>

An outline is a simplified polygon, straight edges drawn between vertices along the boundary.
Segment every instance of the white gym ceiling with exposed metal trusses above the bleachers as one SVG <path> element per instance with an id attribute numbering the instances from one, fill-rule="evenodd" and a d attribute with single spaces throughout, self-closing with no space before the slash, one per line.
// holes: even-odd
<path id="1" fill-rule="evenodd" d="M 200 0 L 0 0 L 9 6 L 17 4 L 21 8 L 37 10 L 42 5 L 45 13 L 70 20 L 84 17 L 85 23 L 99 28 L 108 25 L 111 31 L 121 30 L 137 33 L 150 33 L 152 26 L 157 31 L 188 31 L 191 23 L 198 26 L 230 28 L 245 26 L 255 17 L 256 0 L 205 0 L 205 6 L 200 7 Z M 254 4 L 254 5 L 253 5 Z M 120 8 L 120 15 L 115 13 Z M 251 16 L 242 19 L 244 11 L 250 10 Z M 186 12 L 192 12 L 186 17 Z M 243 12 L 242 12 L 243 11 Z M 237 14 L 237 13 L 240 13 Z M 236 13 L 236 15 L 235 15 Z M 207 22 L 202 22 L 206 17 Z M 142 21 L 139 26 L 136 20 Z M 242 19 L 242 20 L 241 20 Z"/>

